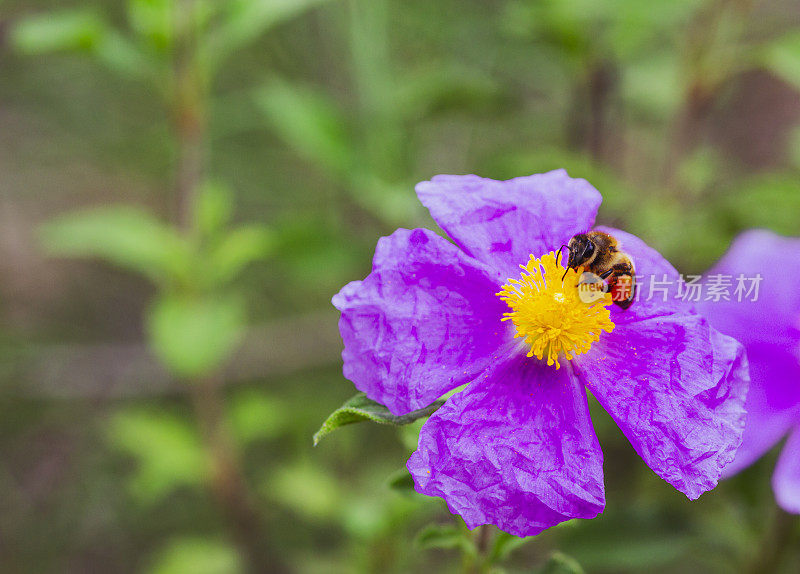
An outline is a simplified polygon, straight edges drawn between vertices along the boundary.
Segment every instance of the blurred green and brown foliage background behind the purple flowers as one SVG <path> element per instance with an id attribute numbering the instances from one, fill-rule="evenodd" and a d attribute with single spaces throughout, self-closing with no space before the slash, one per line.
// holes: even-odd
<path id="1" fill-rule="evenodd" d="M 561 167 L 682 273 L 800 235 L 800 4 L 0 3 L 0 570 L 461 571 L 418 424 L 312 446 L 330 298 L 416 182 Z M 506 571 L 797 572 L 774 452 L 690 503 L 595 407 L 607 510 Z"/>

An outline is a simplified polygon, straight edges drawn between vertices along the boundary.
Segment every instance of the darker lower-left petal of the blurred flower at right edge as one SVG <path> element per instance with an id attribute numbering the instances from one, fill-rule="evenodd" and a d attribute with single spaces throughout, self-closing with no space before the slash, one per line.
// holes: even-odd
<path id="1" fill-rule="evenodd" d="M 733 476 L 775 446 L 789 429 L 800 424 L 800 364 L 772 345 L 750 345 L 750 392 L 742 446 L 723 475 Z"/>

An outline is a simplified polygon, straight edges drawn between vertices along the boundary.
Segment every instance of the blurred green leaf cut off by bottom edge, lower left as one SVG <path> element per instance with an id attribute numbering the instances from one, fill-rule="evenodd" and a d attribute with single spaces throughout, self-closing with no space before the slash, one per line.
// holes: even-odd
<path id="1" fill-rule="evenodd" d="M 148 570 L 150 574 L 237 574 L 244 571 L 235 548 L 201 538 L 171 541 Z"/>

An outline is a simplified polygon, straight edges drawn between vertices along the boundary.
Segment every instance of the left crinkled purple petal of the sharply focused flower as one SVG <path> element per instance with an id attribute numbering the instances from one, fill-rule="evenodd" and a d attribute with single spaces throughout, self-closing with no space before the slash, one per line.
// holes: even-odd
<path id="1" fill-rule="evenodd" d="M 333 298 L 344 375 L 400 415 L 472 380 L 513 332 L 496 272 L 425 229 L 399 229 Z"/>

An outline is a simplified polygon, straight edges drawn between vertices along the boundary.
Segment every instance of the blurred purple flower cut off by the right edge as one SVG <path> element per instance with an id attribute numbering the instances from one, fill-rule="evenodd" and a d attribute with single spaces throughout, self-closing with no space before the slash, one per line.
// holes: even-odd
<path id="1" fill-rule="evenodd" d="M 800 239 L 748 231 L 707 280 L 713 275 L 731 278 L 730 300 L 704 301 L 700 311 L 744 344 L 752 379 L 742 446 L 724 474 L 736 474 L 789 435 L 772 488 L 781 507 L 800 513 Z"/>

